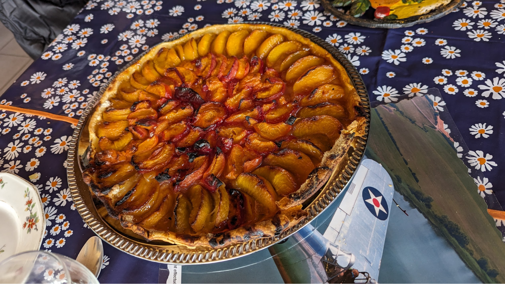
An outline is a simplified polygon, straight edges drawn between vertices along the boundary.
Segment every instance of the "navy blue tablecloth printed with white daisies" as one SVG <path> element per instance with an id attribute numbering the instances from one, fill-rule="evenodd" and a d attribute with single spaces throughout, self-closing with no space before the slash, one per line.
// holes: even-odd
<path id="1" fill-rule="evenodd" d="M 477 6 L 478 5 L 478 6 Z M 431 23 L 401 29 L 349 25 L 324 14 L 318 1 L 90 1 L 74 21 L 2 96 L 1 104 L 79 118 L 100 86 L 142 50 L 211 24 L 265 21 L 307 30 L 354 63 L 370 99 L 440 89 L 467 144 L 456 145 L 491 209 L 502 210 L 505 177 L 505 1 L 466 2 Z M 70 124 L 0 112 L 0 167 L 36 174 L 47 234 L 42 249 L 75 257 L 93 235 L 75 210 L 66 180 Z M 478 188 L 481 190 L 479 191 Z M 500 205 L 501 204 L 501 205 Z M 505 226 L 497 220 L 498 229 Z M 156 282 L 157 263 L 105 245 L 102 282 Z"/>

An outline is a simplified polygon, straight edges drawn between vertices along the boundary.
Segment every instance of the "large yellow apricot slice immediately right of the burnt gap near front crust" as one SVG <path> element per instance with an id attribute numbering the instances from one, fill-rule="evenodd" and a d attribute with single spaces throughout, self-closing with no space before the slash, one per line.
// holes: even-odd
<path id="1" fill-rule="evenodd" d="M 233 185 L 265 206 L 268 209 L 267 214 L 271 215 L 277 212 L 278 208 L 275 204 L 277 194 L 272 185 L 264 178 L 243 173 L 233 181 Z"/>

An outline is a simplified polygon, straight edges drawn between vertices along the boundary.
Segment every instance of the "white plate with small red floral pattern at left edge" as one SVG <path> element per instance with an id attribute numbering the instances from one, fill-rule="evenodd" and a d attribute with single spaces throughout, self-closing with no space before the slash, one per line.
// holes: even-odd
<path id="1" fill-rule="evenodd" d="M 38 250 L 45 218 L 37 188 L 10 173 L 0 173 L 0 261 Z"/>

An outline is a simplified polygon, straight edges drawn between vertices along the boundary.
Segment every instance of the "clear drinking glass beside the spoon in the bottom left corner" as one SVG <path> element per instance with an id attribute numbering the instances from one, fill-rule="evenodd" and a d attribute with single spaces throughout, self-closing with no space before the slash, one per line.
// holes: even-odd
<path id="1" fill-rule="evenodd" d="M 89 269 L 57 253 L 29 251 L 0 262 L 0 283 L 99 283 Z"/>

